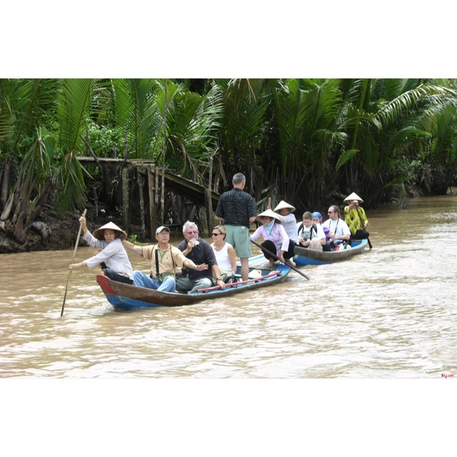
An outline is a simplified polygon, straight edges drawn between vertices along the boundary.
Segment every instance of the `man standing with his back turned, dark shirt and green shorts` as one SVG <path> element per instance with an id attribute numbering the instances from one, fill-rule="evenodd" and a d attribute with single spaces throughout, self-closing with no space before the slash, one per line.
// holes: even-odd
<path id="1" fill-rule="evenodd" d="M 236 255 L 241 261 L 241 279 L 247 281 L 248 258 L 252 254 L 249 226 L 256 220 L 256 202 L 243 191 L 246 177 L 242 173 L 233 176 L 232 184 L 233 189 L 221 195 L 215 217 L 224 222 L 227 231 L 226 242 L 235 248 Z"/>

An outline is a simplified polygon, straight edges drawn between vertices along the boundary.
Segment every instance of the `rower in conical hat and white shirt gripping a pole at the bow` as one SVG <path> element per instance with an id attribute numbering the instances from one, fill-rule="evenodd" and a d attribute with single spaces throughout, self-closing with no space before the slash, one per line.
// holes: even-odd
<path id="1" fill-rule="evenodd" d="M 134 283 L 134 271 L 131 268 L 129 256 L 126 253 L 122 240 L 127 238 L 127 233 L 116 224 L 109 222 L 94 231 L 94 235 L 87 229 L 86 218 L 81 216 L 79 222 L 83 224 L 84 240 L 94 248 L 102 250 L 91 258 L 79 263 L 71 263 L 70 270 L 76 270 L 81 266 L 100 265 L 104 263 L 102 273 L 113 281 L 122 283 Z"/>

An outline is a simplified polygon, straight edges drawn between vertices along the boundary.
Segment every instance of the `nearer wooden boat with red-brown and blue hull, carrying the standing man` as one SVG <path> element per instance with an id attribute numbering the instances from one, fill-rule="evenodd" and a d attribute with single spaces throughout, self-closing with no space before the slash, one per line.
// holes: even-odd
<path id="1" fill-rule="evenodd" d="M 238 266 L 237 276 L 240 273 Z M 196 293 L 159 292 L 150 288 L 131 286 L 129 284 L 112 281 L 106 276 L 96 277 L 106 299 L 118 310 L 134 308 L 156 308 L 158 306 L 185 306 L 198 303 L 199 301 L 211 300 L 230 296 L 233 293 L 251 291 L 255 288 L 273 286 L 281 283 L 291 271 L 286 265 L 275 266 L 270 269 L 249 268 L 249 279 L 238 283 L 227 284 L 226 288 L 219 286 L 200 289 Z"/>

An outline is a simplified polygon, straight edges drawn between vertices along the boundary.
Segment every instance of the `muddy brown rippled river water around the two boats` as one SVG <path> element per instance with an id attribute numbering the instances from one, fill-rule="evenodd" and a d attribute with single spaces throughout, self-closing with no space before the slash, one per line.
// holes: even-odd
<path id="1" fill-rule="evenodd" d="M 367 213 L 371 251 L 306 267 L 309 281 L 291 272 L 277 286 L 181 308 L 114 311 L 96 284 L 96 268 L 82 268 L 71 273 L 61 317 L 73 250 L 0 255 L 0 378 L 14 378 L 14 391 L 22 380 L 21 395 L 28 391 L 24 380 L 42 378 L 109 379 L 102 384 L 109 392 L 114 378 L 137 380 L 134 388 L 119 382 L 114 389 L 141 392 L 151 386 L 144 380 L 167 379 L 159 383 L 166 396 L 187 392 L 189 384 L 214 392 L 214 383 L 183 386 L 183 379 L 271 379 L 268 386 L 286 398 L 289 389 L 293 398 L 304 390 L 292 379 L 352 378 L 345 389 L 356 391 L 354 380 L 449 384 L 457 376 L 457 196 Z M 93 255 L 83 245 L 77 261 Z M 129 256 L 134 268 L 147 269 Z M 281 379 L 289 381 L 276 384 Z M 152 386 L 156 391 L 157 381 Z M 248 386 L 254 398 L 258 383 Z"/>

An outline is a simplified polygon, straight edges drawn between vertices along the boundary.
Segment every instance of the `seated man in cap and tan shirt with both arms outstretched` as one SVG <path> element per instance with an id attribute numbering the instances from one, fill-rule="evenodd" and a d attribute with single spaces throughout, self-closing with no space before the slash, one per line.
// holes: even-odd
<path id="1" fill-rule="evenodd" d="M 142 271 L 134 271 L 134 285 L 152 288 L 161 292 L 176 292 L 176 266 L 192 268 L 195 271 L 204 271 L 208 265 L 201 263 L 196 265 L 190 258 L 174 246 L 171 246 L 170 229 L 160 226 L 156 230 L 156 245 L 136 246 L 130 241 L 122 241 L 124 246 L 136 252 L 141 257 L 151 261 L 151 274 L 146 276 Z"/>

